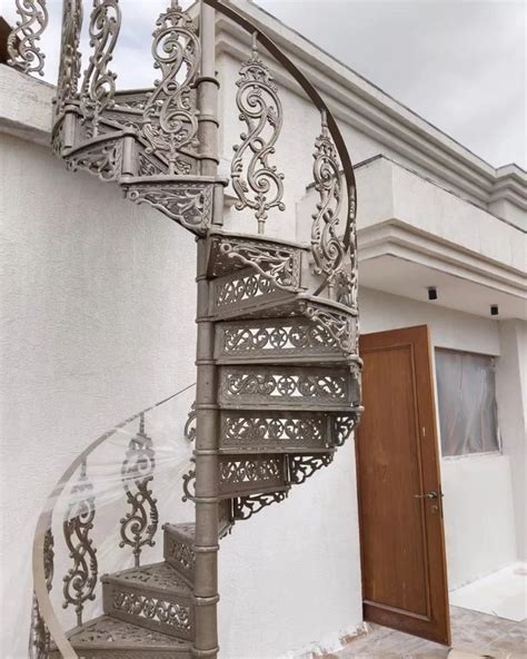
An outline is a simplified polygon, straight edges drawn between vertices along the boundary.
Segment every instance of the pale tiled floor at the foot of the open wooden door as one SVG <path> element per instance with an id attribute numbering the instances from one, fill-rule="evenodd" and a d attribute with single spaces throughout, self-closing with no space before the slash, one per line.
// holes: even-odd
<path id="1" fill-rule="evenodd" d="M 449 648 L 386 627 L 368 623 L 370 632 L 327 659 L 445 659 Z M 527 658 L 527 620 L 515 622 L 451 607 L 453 648 L 496 659 Z"/>

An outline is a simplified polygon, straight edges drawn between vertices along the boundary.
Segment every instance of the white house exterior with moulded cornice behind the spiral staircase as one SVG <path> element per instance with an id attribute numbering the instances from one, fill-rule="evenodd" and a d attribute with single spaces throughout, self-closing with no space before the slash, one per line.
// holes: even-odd
<path id="1" fill-rule="evenodd" d="M 495 169 L 257 6 L 239 8 L 312 81 L 350 151 L 361 334 L 428 325 L 447 393 L 457 386 L 458 355 L 494 373 L 485 405 L 496 403 L 497 416 L 484 425 L 496 427 L 483 450 L 446 442 L 449 403 L 437 390 L 449 589 L 527 561 L 526 173 Z M 216 30 L 220 174 L 228 176 L 241 130 L 235 81 L 250 39 L 221 16 Z M 274 161 L 295 217 L 270 213 L 268 233 L 309 242 L 319 117 L 287 71 L 262 57 L 284 106 Z M 96 437 L 186 387 L 158 425 L 170 431 L 158 454 L 166 479 L 158 499 L 168 517 L 191 519 L 179 476 L 191 455 L 182 426 L 196 382 L 196 263 L 193 237 L 181 227 L 54 158 L 52 86 L 0 66 L 0 94 L 2 655 L 18 659 L 30 623 L 31 539 L 54 483 Z M 236 209 L 231 184 L 225 204 L 225 226 L 243 230 L 247 213 Z M 100 554 L 113 550 L 110 535 Z M 361 631 L 352 442 L 279 505 L 237 524 L 219 555 L 221 656 L 308 656 Z"/>

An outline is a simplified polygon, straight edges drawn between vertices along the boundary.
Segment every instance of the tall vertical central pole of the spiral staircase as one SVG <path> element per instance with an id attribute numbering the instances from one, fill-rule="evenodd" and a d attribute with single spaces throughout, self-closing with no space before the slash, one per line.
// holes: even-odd
<path id="1" fill-rule="evenodd" d="M 218 81 L 215 69 L 215 10 L 201 3 L 201 70 L 197 81 L 200 173 L 218 171 Z M 216 186 L 220 188 L 221 186 Z M 221 204 L 219 205 L 218 201 Z M 221 195 L 215 196 L 215 223 L 222 215 Z M 196 386 L 196 565 L 195 657 L 218 656 L 218 433 L 215 324 L 209 319 L 207 242 L 199 238 L 197 262 L 197 386 Z"/>

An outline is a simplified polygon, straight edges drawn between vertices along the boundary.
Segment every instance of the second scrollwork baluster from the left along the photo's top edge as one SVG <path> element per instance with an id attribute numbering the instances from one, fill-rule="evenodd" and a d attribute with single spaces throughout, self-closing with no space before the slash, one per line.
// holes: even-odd
<path id="1" fill-rule="evenodd" d="M 79 52 L 82 27 L 82 0 L 64 0 L 62 9 L 62 43 L 60 48 L 57 108 L 60 115 L 64 106 L 77 99 L 80 78 Z"/>

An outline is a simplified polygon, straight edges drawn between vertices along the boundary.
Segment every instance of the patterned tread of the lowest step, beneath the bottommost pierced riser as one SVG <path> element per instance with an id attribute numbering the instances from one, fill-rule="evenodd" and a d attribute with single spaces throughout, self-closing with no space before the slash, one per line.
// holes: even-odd
<path id="1" fill-rule="evenodd" d="M 161 648 L 190 649 L 187 641 L 110 616 L 101 616 L 84 622 L 71 630 L 68 637 L 71 645 L 79 649 L 107 649 L 109 647 L 115 650 L 138 648 L 148 648 L 149 650 Z"/>

